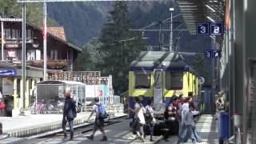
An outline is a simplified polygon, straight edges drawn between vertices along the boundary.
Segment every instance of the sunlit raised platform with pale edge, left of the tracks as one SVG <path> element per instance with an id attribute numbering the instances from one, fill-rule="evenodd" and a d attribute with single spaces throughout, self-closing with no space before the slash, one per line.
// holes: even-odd
<path id="1" fill-rule="evenodd" d="M 86 125 L 89 112 L 79 113 L 74 119 L 74 126 Z M 118 114 L 124 116 L 126 114 Z M 2 137 L 29 137 L 49 131 L 62 129 L 62 114 L 32 114 L 29 116 L 0 117 L 2 122 Z M 1 138 L 1 137 L 0 137 Z"/>

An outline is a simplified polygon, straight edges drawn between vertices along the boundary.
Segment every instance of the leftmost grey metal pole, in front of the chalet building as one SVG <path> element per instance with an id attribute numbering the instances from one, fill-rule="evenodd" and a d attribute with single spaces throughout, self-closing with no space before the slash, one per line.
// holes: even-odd
<path id="1" fill-rule="evenodd" d="M 26 3 L 22 3 L 22 98 L 26 107 Z"/>

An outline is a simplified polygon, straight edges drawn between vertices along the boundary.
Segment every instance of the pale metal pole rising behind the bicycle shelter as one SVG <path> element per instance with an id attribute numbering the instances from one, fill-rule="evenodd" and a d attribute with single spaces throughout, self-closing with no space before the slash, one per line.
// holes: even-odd
<path id="1" fill-rule="evenodd" d="M 46 19 L 47 19 L 47 13 L 46 13 L 46 2 L 43 2 L 43 80 L 46 80 L 46 70 L 47 70 L 47 43 L 46 43 L 46 36 L 47 36 L 47 26 L 46 26 Z"/>

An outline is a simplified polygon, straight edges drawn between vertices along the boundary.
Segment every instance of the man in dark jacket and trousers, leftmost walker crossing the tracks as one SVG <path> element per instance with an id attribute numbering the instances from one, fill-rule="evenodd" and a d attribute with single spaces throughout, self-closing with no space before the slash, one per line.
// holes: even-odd
<path id="1" fill-rule="evenodd" d="M 64 131 L 64 138 L 66 138 L 66 122 L 69 122 L 70 140 L 72 141 L 74 137 L 73 120 L 77 117 L 77 112 L 75 110 L 75 102 L 70 98 L 70 92 L 65 93 L 64 96 L 65 104 L 63 110 L 62 129 Z"/>

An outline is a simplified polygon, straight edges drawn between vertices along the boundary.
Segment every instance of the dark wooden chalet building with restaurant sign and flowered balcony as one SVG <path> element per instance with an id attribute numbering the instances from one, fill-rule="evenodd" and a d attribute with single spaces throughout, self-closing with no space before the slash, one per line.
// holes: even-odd
<path id="1" fill-rule="evenodd" d="M 0 22 L 1 92 L 5 96 L 6 114 L 8 115 L 12 110 L 12 114 L 17 115 L 23 106 L 22 98 L 24 98 L 21 92 L 22 19 L 0 18 Z M 34 102 L 35 83 L 42 81 L 43 77 L 42 31 L 41 27 L 26 22 L 26 106 Z M 47 27 L 48 75 L 51 74 L 52 70 L 72 71 L 79 52 L 82 52 L 81 48 L 66 41 L 63 26 Z"/>

